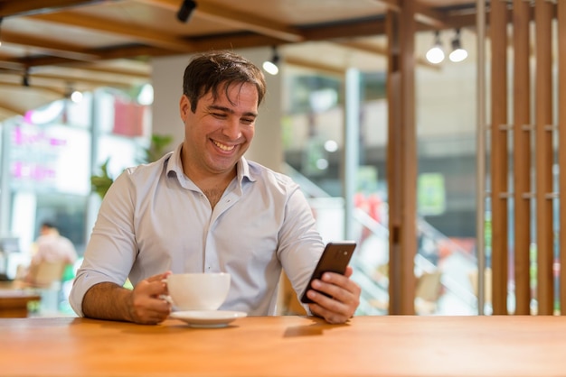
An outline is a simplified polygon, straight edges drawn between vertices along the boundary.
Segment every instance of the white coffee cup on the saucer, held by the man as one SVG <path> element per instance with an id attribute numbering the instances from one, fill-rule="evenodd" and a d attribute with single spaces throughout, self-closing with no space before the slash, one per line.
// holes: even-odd
<path id="1" fill-rule="evenodd" d="M 174 273 L 164 281 L 178 310 L 216 310 L 230 290 L 230 274 L 225 272 Z"/>

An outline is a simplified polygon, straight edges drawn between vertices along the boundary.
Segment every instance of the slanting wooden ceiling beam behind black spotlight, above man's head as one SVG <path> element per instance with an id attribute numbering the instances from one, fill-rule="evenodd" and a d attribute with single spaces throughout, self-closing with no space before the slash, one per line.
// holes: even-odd
<path id="1" fill-rule="evenodd" d="M 137 0 L 140 3 L 159 6 L 173 12 L 179 10 L 182 0 Z M 222 8 L 208 2 L 197 2 L 193 16 L 232 27 L 257 32 L 262 35 L 277 38 L 281 41 L 305 41 L 301 32 L 293 27 L 278 23 L 274 19 L 265 19 L 253 14 L 245 14 L 234 9 Z"/>

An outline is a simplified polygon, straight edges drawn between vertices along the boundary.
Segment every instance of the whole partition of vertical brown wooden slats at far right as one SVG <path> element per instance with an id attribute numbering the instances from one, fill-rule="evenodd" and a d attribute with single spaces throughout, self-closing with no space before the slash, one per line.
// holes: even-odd
<path id="1" fill-rule="evenodd" d="M 553 269 L 556 250 L 553 200 L 556 198 L 561 199 L 560 224 L 566 225 L 566 152 L 562 152 L 566 132 L 561 133 L 566 126 L 566 96 L 563 95 L 566 93 L 566 1 L 495 0 L 490 2 L 490 9 L 493 313 L 530 314 L 533 311 L 531 302 L 536 299 L 537 313 L 552 315 L 557 299 Z M 511 20 L 506 16 L 509 11 Z M 555 24 L 559 35 L 558 61 L 553 60 L 552 28 Z M 508 31 L 513 36 L 511 126 L 507 125 Z M 534 32 L 533 38 L 531 32 Z M 558 98 L 554 97 L 553 68 L 558 69 L 560 78 Z M 554 103 L 559 106 L 558 126 L 553 119 Z M 510 153 L 507 130 L 510 128 L 513 130 L 513 171 L 508 170 L 507 161 Z M 556 138 L 558 143 L 554 143 Z M 559 146 L 557 161 L 555 145 Z M 556 163 L 561 170 L 558 181 L 553 173 Z M 507 185 L 509 174 L 513 179 L 511 189 Z M 558 193 L 554 192 L 556 186 Z M 513 202 L 507 202 L 506 199 L 511 197 Z M 514 247 L 509 251 L 507 213 L 511 208 L 514 211 Z M 566 232 L 559 234 L 562 249 L 559 299 L 561 314 L 566 314 L 566 251 L 563 250 L 566 249 Z M 534 297 L 530 255 L 533 243 L 537 255 Z M 514 253 L 514 310 L 507 308 L 509 252 Z"/>

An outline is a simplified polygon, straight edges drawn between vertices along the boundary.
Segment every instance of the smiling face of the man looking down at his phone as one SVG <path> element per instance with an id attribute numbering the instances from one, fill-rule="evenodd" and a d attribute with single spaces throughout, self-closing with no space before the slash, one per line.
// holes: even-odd
<path id="1" fill-rule="evenodd" d="M 230 99 L 229 99 L 230 98 Z M 232 85 L 228 97 L 223 87 L 214 101 L 211 93 L 197 103 L 181 97 L 184 122 L 184 171 L 192 179 L 232 173 L 250 147 L 258 116 L 258 91 L 252 84 Z M 188 165 L 188 166 L 186 166 Z"/>

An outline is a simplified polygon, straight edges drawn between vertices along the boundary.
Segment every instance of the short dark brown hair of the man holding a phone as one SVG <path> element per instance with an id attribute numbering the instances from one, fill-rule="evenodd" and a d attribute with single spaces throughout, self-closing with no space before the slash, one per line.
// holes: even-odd
<path id="1" fill-rule="evenodd" d="M 258 106 L 266 93 L 263 72 L 250 60 L 231 51 L 209 51 L 193 57 L 184 69 L 183 94 L 191 101 L 191 111 L 196 110 L 199 99 L 209 91 L 214 99 L 219 90 L 228 95 L 232 84 L 253 84 L 258 89 Z"/>

